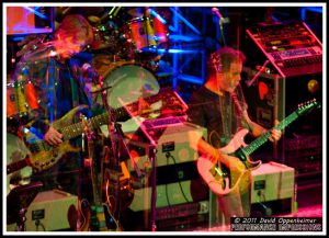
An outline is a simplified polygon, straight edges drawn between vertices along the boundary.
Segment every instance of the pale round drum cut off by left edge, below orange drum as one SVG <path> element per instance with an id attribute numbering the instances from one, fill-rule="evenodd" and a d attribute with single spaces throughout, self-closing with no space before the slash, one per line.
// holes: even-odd
<path id="1" fill-rule="evenodd" d="M 32 175 L 32 168 L 23 160 L 30 155 L 24 143 L 15 135 L 7 133 L 7 167 L 15 168 L 16 171 L 7 175 L 7 194 L 18 185 L 29 184 Z M 22 167 L 21 169 L 19 169 Z M 15 170 L 13 169 L 13 170 Z"/>

